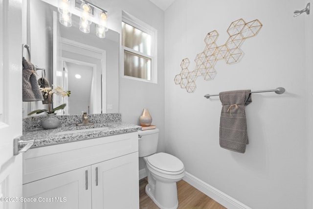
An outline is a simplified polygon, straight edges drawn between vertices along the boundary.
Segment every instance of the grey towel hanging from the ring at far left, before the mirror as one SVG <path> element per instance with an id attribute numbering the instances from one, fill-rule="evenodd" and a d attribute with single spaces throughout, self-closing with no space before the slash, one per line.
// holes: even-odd
<path id="1" fill-rule="evenodd" d="M 43 94 L 41 93 L 34 65 L 31 64 L 23 57 L 23 70 L 22 70 L 22 95 L 24 102 L 30 101 L 42 101 L 44 100 Z"/>

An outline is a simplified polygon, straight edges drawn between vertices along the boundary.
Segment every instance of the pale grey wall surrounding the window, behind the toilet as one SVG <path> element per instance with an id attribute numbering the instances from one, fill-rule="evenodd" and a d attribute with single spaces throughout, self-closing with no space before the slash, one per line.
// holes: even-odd
<path id="1" fill-rule="evenodd" d="M 160 129 L 158 152 L 165 150 L 164 101 L 164 11 L 149 0 L 94 0 L 108 11 L 109 27 L 121 33 L 122 10 L 157 30 L 157 84 L 119 77 L 119 113 L 122 121 L 139 125 L 143 108 Z M 121 62 L 120 62 L 121 63 Z M 121 70 L 121 69 L 120 69 Z M 142 160 L 139 169 L 144 168 Z"/>

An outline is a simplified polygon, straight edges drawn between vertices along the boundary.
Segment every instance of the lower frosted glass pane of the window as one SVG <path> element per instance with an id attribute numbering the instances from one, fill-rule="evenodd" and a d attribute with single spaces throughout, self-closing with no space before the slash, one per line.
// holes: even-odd
<path id="1" fill-rule="evenodd" d="M 124 75 L 151 80 L 151 59 L 124 50 Z"/>

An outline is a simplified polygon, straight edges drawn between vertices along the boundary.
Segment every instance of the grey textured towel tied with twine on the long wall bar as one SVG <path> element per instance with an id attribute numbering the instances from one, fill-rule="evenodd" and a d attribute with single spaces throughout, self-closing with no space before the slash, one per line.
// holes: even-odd
<path id="1" fill-rule="evenodd" d="M 252 102 L 250 90 L 221 92 L 220 146 L 245 153 L 249 143 L 245 106 Z"/>

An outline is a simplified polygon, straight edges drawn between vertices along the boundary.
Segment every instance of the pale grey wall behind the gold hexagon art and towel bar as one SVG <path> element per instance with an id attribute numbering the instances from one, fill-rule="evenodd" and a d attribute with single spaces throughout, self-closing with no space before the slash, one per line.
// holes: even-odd
<path id="1" fill-rule="evenodd" d="M 306 135 L 306 122 L 312 121 L 305 119 L 306 108 L 312 109 L 306 105 L 307 101 L 312 104 L 312 78 L 306 78 L 306 66 L 312 61 L 306 64 L 305 59 L 309 16 L 293 18 L 293 11 L 306 3 L 176 0 L 165 11 L 165 150 L 181 159 L 188 173 L 253 209 L 312 208 L 312 196 L 307 198 L 307 191 L 309 195 L 312 192 L 307 173 L 312 174 L 312 168 L 307 172 L 306 167 L 307 151 L 312 150 L 307 149 L 312 146 L 308 140 L 312 135 Z M 244 56 L 240 62 L 227 65 L 218 61 L 215 79 L 198 77 L 195 93 L 175 85 L 182 59 L 189 58 L 189 70 L 194 70 L 193 60 L 203 51 L 206 34 L 217 30 L 217 44 L 223 45 L 228 26 L 240 18 L 246 22 L 258 19 L 263 24 L 259 33 L 241 46 Z M 312 20 L 309 23 L 312 27 Z M 312 39 L 312 29 L 307 39 Z M 312 54 L 310 49 L 308 58 L 312 59 Z M 246 153 L 221 148 L 221 102 L 219 97 L 206 99 L 203 95 L 280 86 L 286 93 L 252 94 L 253 102 L 246 106 L 250 139 Z M 309 91 L 305 91 L 307 86 Z"/>

